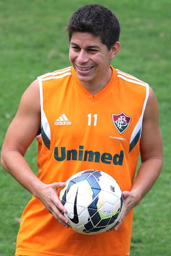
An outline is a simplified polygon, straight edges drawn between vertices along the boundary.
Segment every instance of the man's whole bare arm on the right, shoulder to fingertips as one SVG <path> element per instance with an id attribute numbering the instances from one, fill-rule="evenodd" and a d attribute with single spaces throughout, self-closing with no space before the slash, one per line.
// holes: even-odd
<path id="1" fill-rule="evenodd" d="M 114 227 L 115 231 L 122 224 L 128 212 L 136 205 L 140 204 L 141 200 L 143 200 L 145 194 L 152 188 L 161 172 L 162 138 L 159 128 L 159 111 L 156 97 L 151 88 L 144 113 L 140 153 L 141 165 L 137 172 L 131 192 L 123 192 L 124 210 L 119 222 Z"/>

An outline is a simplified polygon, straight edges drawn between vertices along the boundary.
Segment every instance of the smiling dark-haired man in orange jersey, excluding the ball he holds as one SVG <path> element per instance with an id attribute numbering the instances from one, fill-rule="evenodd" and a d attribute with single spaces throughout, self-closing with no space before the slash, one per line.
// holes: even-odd
<path id="1" fill-rule="evenodd" d="M 39 76 L 27 88 L 3 143 L 3 168 L 33 195 L 15 255 L 126 256 L 133 208 L 162 167 L 157 100 L 147 83 L 110 65 L 120 50 L 120 25 L 112 11 L 81 7 L 67 31 L 72 67 Z M 24 158 L 34 137 L 38 177 Z M 110 174 L 124 198 L 119 222 L 93 236 L 68 228 L 58 197 L 65 181 L 86 169 Z"/>

